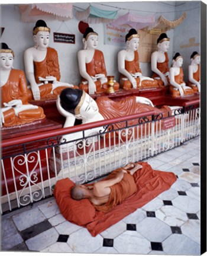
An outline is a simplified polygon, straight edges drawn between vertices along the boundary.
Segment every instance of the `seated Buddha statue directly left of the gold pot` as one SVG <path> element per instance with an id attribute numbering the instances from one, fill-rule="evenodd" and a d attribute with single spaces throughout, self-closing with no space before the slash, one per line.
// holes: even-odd
<path id="1" fill-rule="evenodd" d="M 77 53 L 79 72 L 83 80 L 79 88 L 89 94 L 106 92 L 108 79 L 104 54 L 97 50 L 98 34 L 88 27 L 83 34 L 83 50 Z M 119 84 L 114 81 L 114 91 L 118 91 Z"/>

